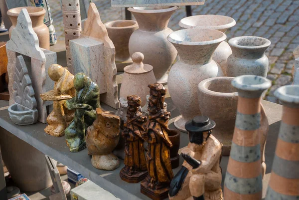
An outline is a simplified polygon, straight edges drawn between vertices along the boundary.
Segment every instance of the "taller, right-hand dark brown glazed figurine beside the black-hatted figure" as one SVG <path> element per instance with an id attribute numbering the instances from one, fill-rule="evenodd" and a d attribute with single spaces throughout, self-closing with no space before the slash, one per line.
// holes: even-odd
<path id="1" fill-rule="evenodd" d="M 163 110 L 166 89 L 160 83 L 149 84 L 149 121 L 147 134 L 143 137 L 148 142 L 147 166 L 149 175 L 141 182 L 141 193 L 153 200 L 167 198 L 169 184 L 173 178 L 169 149 L 172 144 L 168 137 L 169 112 Z"/>

